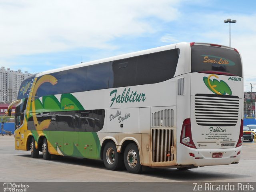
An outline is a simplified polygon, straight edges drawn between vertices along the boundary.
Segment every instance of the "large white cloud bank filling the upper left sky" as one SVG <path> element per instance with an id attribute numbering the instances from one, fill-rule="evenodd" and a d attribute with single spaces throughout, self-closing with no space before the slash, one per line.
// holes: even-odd
<path id="1" fill-rule="evenodd" d="M 1 57 L 59 52 L 78 47 L 116 48 L 108 41 L 157 29 L 147 21 L 169 22 L 179 0 L 2 0 Z"/>

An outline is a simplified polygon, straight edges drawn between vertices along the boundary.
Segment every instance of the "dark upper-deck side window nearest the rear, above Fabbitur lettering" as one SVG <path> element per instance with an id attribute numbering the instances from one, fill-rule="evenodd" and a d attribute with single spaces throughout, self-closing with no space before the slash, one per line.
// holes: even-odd
<path id="1" fill-rule="evenodd" d="M 172 49 L 114 61 L 113 87 L 153 84 L 171 79 L 178 58 L 179 50 Z"/>

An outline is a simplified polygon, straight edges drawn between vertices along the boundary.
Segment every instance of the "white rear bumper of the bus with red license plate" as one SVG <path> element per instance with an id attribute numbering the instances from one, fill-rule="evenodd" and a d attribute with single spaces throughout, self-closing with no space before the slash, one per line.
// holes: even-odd
<path id="1" fill-rule="evenodd" d="M 180 144 L 182 145 L 182 144 Z M 178 165 L 210 166 L 228 165 L 239 162 L 242 146 L 226 149 L 194 149 L 179 146 L 184 151 L 177 154 Z"/>

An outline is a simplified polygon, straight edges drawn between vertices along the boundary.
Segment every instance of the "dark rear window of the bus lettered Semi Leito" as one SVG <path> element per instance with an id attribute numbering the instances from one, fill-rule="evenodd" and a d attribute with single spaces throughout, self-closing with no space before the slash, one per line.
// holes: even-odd
<path id="1" fill-rule="evenodd" d="M 242 77 L 238 52 L 227 48 L 194 45 L 191 47 L 191 72 L 224 72 Z"/>

